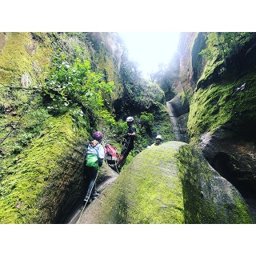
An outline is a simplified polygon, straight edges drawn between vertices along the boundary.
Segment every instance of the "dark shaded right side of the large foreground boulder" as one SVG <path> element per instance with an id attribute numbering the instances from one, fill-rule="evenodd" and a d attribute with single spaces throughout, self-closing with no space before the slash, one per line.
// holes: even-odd
<path id="1" fill-rule="evenodd" d="M 178 154 L 186 223 L 252 223 L 242 196 L 191 146 Z"/>

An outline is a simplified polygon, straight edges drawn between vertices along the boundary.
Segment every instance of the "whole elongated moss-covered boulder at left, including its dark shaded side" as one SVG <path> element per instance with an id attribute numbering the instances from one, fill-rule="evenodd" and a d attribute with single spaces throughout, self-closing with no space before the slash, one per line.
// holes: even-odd
<path id="1" fill-rule="evenodd" d="M 69 114 L 50 118 L 38 138 L 5 169 L 0 222 L 50 223 L 70 210 L 81 193 L 79 150 L 84 146 Z"/>

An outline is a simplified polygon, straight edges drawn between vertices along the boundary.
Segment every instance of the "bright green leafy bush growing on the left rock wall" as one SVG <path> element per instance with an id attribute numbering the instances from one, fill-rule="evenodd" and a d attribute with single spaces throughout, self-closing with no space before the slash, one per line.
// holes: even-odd
<path id="1" fill-rule="evenodd" d="M 42 86 L 42 94 L 50 103 L 49 110 L 58 113 L 68 108 L 86 111 L 94 118 L 111 118 L 104 108 L 102 95 L 110 94 L 114 82 L 104 82 L 102 74 L 90 70 L 90 62 L 76 59 L 73 64 L 66 61 L 65 54 L 56 54 L 53 67 Z"/>

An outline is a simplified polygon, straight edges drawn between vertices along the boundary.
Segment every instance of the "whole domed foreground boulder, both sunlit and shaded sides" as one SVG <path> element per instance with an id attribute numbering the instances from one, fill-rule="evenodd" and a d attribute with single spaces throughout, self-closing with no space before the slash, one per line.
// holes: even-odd
<path id="1" fill-rule="evenodd" d="M 98 199 L 90 223 L 254 222 L 238 190 L 184 142 L 142 151 Z"/>

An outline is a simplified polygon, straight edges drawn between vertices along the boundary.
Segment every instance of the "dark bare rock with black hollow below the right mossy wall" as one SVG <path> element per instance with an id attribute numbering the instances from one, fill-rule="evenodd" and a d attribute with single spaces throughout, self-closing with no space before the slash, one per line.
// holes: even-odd
<path id="1" fill-rule="evenodd" d="M 256 192 L 256 146 L 245 136 L 241 138 L 241 134 L 248 136 L 250 132 L 252 130 L 242 132 L 219 127 L 213 133 L 204 134 L 199 143 L 210 165 L 229 180 L 245 199 L 254 198 Z"/>

